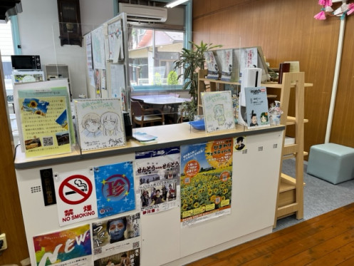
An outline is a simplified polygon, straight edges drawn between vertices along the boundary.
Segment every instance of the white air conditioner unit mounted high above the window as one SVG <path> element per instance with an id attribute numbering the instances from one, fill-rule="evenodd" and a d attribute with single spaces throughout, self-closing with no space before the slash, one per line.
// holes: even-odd
<path id="1" fill-rule="evenodd" d="M 127 21 L 165 22 L 167 20 L 165 7 L 120 3 L 119 12 L 127 14 Z"/>

